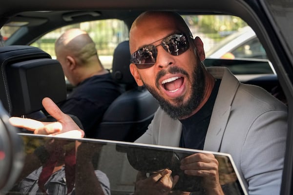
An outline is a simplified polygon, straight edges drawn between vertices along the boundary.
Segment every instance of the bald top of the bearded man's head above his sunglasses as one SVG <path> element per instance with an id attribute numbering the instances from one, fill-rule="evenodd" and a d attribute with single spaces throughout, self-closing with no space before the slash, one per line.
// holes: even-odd
<path id="1" fill-rule="evenodd" d="M 132 23 L 130 28 L 130 52 L 133 53 L 138 49 L 138 42 L 143 45 L 145 44 L 144 40 L 146 40 L 146 44 L 156 41 L 145 38 L 155 37 L 154 34 L 156 34 L 156 37 L 160 37 L 160 34 L 166 36 L 166 32 L 175 31 L 192 36 L 186 22 L 179 14 L 164 11 L 144 12 Z"/>

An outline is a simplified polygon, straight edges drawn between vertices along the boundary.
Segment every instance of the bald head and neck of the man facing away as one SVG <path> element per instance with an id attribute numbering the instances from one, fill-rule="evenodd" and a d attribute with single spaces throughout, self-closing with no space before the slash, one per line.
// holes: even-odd
<path id="1" fill-rule="evenodd" d="M 55 52 L 64 75 L 73 85 L 94 75 L 107 73 L 98 57 L 94 41 L 81 29 L 64 32 L 55 42 Z"/>

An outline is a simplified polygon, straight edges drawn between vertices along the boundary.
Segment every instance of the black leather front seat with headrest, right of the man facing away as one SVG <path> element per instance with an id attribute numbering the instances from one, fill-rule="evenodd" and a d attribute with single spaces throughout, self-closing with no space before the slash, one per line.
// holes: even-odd
<path id="1" fill-rule="evenodd" d="M 114 51 L 112 76 L 125 92 L 106 110 L 96 132 L 97 138 L 133 142 L 146 132 L 159 107 L 145 87 L 137 86 L 129 64 L 129 41 L 124 41 Z"/>

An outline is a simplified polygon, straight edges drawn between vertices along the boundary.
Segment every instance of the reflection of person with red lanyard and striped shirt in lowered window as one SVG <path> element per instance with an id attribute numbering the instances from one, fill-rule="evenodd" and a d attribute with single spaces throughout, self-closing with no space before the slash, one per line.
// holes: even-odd
<path id="1" fill-rule="evenodd" d="M 110 195 L 108 177 L 96 169 L 101 143 L 23 136 L 25 164 L 9 194 Z"/>

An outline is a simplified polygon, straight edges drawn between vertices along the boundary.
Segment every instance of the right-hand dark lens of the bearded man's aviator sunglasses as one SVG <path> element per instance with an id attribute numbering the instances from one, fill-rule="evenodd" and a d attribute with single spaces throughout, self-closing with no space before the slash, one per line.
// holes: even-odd
<path id="1" fill-rule="evenodd" d="M 183 34 L 174 34 L 162 40 L 164 49 L 173 56 L 186 52 L 189 48 L 188 38 Z"/>

